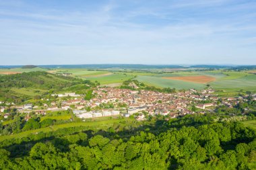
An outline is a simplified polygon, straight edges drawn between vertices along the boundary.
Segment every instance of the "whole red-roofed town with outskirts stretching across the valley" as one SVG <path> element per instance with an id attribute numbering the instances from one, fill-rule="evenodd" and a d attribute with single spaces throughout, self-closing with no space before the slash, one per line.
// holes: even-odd
<path id="1" fill-rule="evenodd" d="M 15 108 L 20 114 L 27 114 L 26 121 L 32 114 L 46 116 L 49 112 L 72 110 L 77 118 L 98 118 L 105 116 L 136 115 L 137 120 L 146 120 L 145 115 L 161 115 L 169 118 L 177 118 L 187 114 L 200 114 L 214 112 L 218 105 L 232 105 L 240 101 L 247 101 L 248 95 L 240 97 L 218 97 L 213 89 L 197 91 L 189 89 L 177 93 L 162 93 L 158 91 L 119 89 L 113 87 L 97 87 L 92 92 L 92 99 L 84 99 L 84 95 L 75 93 L 52 94 L 50 99 L 42 98 L 41 105 L 26 103 L 15 105 L 5 103 L 1 106 L 1 112 L 5 119 L 9 118 L 7 108 Z M 256 95 L 253 95 L 256 99 Z M 3 101 L 0 101 L 4 104 Z M 3 121 L 3 120 L 2 120 Z"/>

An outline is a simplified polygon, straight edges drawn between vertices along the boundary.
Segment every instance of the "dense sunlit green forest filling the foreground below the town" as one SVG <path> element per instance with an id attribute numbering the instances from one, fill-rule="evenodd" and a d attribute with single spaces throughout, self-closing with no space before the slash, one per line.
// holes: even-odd
<path id="1" fill-rule="evenodd" d="M 188 121 L 189 120 L 189 121 Z M 127 128 L 129 127 L 129 128 Z M 255 169 L 256 134 L 239 122 L 185 116 L 108 130 L 63 128 L 4 140 L 1 169 Z"/>

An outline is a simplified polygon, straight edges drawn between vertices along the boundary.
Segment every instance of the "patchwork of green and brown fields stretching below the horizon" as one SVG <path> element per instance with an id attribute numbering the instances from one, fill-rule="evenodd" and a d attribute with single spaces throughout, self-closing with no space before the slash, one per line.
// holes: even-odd
<path id="1" fill-rule="evenodd" d="M 146 85 L 159 88 L 170 87 L 175 89 L 204 89 L 207 85 L 217 89 L 220 95 L 237 95 L 241 91 L 256 91 L 256 74 L 254 71 L 172 71 L 145 72 L 144 70 L 119 72 L 108 70 L 89 70 L 89 69 L 1 69 L 1 74 L 14 74 L 29 71 L 47 71 L 53 74 L 67 73 L 71 77 L 98 81 L 100 85 L 121 85 L 128 79 L 137 79 Z M 13 89 L 19 93 L 35 95 L 36 89 Z M 44 91 L 40 91 L 42 93 Z"/>

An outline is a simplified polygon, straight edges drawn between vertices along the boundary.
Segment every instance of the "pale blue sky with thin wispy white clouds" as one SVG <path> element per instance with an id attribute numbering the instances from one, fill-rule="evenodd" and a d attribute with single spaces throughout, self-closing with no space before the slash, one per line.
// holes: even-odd
<path id="1" fill-rule="evenodd" d="M 256 65 L 255 0 L 0 0 L 0 65 Z"/>

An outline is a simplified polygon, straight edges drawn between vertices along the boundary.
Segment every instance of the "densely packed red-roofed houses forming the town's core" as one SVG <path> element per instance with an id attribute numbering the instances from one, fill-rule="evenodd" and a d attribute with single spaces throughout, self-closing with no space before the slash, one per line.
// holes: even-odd
<path id="1" fill-rule="evenodd" d="M 150 115 L 160 114 L 175 118 L 185 114 L 193 114 L 188 110 L 188 106 L 193 101 L 202 101 L 214 97 L 211 95 L 214 92 L 213 90 L 205 90 L 201 95 L 193 95 L 196 92 L 194 89 L 179 93 L 161 93 L 157 91 L 132 91 L 130 89 L 100 87 L 94 91 L 96 97 L 90 101 L 90 105 L 94 107 L 100 103 L 121 102 L 128 106 L 125 116 L 137 112 L 147 112 Z"/>

